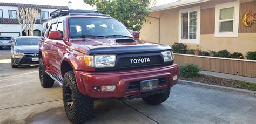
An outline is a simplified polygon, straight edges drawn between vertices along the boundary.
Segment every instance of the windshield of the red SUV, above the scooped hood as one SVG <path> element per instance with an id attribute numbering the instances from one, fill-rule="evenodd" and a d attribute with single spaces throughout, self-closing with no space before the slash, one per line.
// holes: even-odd
<path id="1" fill-rule="evenodd" d="M 78 36 L 107 36 L 107 37 L 132 37 L 129 30 L 116 19 L 106 18 L 70 18 L 69 37 Z"/>

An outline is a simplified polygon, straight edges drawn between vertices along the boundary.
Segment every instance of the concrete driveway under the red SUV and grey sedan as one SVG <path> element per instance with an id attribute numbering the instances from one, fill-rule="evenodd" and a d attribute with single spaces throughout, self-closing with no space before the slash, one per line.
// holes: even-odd
<path id="1" fill-rule="evenodd" d="M 12 69 L 0 60 L 0 102 L 0 123 L 70 123 L 62 88 L 41 87 L 37 67 Z M 251 95 L 180 84 L 161 105 L 101 99 L 94 109 L 88 123 L 256 123 L 256 99 Z"/>

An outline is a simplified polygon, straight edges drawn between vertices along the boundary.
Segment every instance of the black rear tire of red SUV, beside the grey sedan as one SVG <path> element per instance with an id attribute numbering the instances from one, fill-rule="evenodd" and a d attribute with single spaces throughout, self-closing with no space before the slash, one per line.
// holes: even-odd
<path id="1" fill-rule="evenodd" d="M 38 68 L 41 86 L 44 88 L 52 87 L 54 80 L 47 73 L 45 73 L 45 65 L 42 57 L 39 58 Z"/>

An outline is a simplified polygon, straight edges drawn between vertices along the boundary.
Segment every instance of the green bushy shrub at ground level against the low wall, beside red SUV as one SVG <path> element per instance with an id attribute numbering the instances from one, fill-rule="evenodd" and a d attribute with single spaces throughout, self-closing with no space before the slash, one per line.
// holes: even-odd
<path id="1" fill-rule="evenodd" d="M 193 78 L 199 74 L 201 69 L 198 65 L 182 65 L 180 66 L 180 76 L 185 78 Z"/>

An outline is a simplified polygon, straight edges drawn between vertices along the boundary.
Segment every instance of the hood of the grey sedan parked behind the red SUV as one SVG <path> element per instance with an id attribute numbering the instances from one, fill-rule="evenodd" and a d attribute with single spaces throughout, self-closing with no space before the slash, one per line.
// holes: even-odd
<path id="1" fill-rule="evenodd" d="M 38 53 L 39 46 L 38 45 L 14 46 L 14 51 L 21 52 L 21 53 Z"/>

